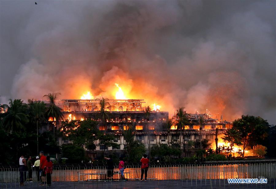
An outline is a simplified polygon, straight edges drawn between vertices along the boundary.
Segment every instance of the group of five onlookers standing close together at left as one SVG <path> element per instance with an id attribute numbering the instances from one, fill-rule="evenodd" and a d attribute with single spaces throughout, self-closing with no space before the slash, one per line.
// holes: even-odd
<path id="1" fill-rule="evenodd" d="M 51 186 L 53 162 L 50 160 L 50 156 L 44 156 L 43 151 L 41 151 L 39 155 L 40 157 L 36 156 L 36 161 L 34 164 L 32 163 L 31 156 L 29 156 L 27 162 L 23 155 L 19 158 L 20 186 L 24 186 L 24 182 L 27 178 L 28 182 L 33 182 L 33 167 L 36 171 L 37 181 L 41 181 L 40 186 Z"/>

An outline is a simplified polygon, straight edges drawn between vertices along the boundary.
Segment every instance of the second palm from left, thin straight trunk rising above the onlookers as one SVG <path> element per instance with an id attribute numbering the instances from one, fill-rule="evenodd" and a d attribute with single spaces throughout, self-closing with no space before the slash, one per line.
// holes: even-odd
<path id="1" fill-rule="evenodd" d="M 45 110 L 46 106 L 45 103 L 42 101 L 33 101 L 33 100 L 28 100 L 29 102 L 29 109 L 30 109 L 30 114 L 31 118 L 33 119 L 34 122 L 36 122 L 36 144 L 37 144 L 37 154 L 38 154 L 38 123 L 45 120 Z"/>

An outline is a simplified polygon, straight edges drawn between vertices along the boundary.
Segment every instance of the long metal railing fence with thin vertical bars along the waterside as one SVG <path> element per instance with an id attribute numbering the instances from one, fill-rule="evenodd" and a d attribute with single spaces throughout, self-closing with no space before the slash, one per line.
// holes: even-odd
<path id="1" fill-rule="evenodd" d="M 83 182 L 103 181 L 106 179 L 105 166 L 91 167 L 55 167 L 52 173 L 52 182 Z M 125 166 L 125 177 L 128 180 L 138 180 L 141 176 L 140 166 Z M 28 178 L 28 173 L 27 173 Z M 150 180 L 201 180 L 206 183 L 209 179 L 228 178 L 266 178 L 275 183 L 275 163 L 251 164 L 176 164 L 151 165 L 148 169 Z M 118 167 L 114 167 L 114 180 L 120 179 Z M 27 179 L 28 180 L 28 179 Z M 33 181 L 37 181 L 36 172 L 33 171 Z M 20 173 L 18 168 L 0 168 L 0 183 L 19 185 Z"/>

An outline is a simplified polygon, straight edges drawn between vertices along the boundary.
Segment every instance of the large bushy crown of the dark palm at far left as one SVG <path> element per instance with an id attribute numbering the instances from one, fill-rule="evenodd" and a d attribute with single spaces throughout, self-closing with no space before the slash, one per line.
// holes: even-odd
<path id="1" fill-rule="evenodd" d="M 27 105 L 21 99 L 10 99 L 9 105 L 2 105 L 7 107 L 5 117 L 3 117 L 3 125 L 6 132 L 16 132 L 25 130 L 25 124 L 29 122 L 26 115 Z"/>

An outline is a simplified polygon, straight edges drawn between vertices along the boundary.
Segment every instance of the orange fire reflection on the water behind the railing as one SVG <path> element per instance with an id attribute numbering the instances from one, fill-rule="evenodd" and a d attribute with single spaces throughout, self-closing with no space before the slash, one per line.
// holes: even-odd
<path id="1" fill-rule="evenodd" d="M 172 165 L 151 167 L 148 170 L 148 179 L 227 179 L 227 178 L 274 178 L 275 164 L 230 164 L 230 165 Z M 267 170 L 270 170 L 267 171 Z M 53 171 L 53 181 L 80 181 L 98 180 L 96 173 L 105 173 L 106 169 L 67 169 Z M 113 178 L 118 179 L 118 169 L 114 169 Z M 79 177 L 79 173 L 80 177 Z M 141 169 L 125 168 L 127 179 L 140 179 Z M 86 175 L 85 175 L 86 174 Z M 94 174 L 94 175 L 92 175 Z M 100 179 L 105 179 L 102 174 Z"/>

